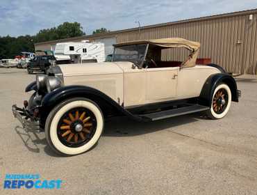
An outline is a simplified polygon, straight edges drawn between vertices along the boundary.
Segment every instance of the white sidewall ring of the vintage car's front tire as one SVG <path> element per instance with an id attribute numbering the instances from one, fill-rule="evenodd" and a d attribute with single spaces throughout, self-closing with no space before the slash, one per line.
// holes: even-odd
<path id="1" fill-rule="evenodd" d="M 76 107 L 85 107 L 87 109 L 90 109 L 90 111 L 92 111 L 95 118 L 97 119 L 97 129 L 94 133 L 94 136 L 92 137 L 92 139 L 90 139 L 90 141 L 88 141 L 88 143 L 85 143 L 85 145 L 80 146 L 78 148 L 70 148 L 65 146 L 58 139 L 58 134 L 57 134 L 58 123 L 60 121 L 60 118 L 65 114 L 65 112 L 69 111 L 70 109 L 74 109 Z M 103 130 L 103 116 L 99 108 L 96 105 L 94 105 L 92 102 L 76 100 L 74 102 L 69 102 L 68 104 L 65 104 L 56 112 L 55 116 L 53 116 L 53 119 L 51 120 L 51 124 L 49 127 L 49 137 L 51 139 L 51 142 L 53 143 L 53 146 L 56 148 L 56 150 L 60 151 L 60 153 L 63 153 L 65 155 L 78 155 L 90 150 L 90 148 L 92 148 L 94 144 L 97 143 L 97 141 L 101 137 L 102 130 Z"/>

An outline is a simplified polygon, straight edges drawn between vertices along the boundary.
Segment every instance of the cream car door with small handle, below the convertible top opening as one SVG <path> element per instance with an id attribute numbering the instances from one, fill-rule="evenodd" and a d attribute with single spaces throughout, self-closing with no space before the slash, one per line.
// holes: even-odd
<path id="1" fill-rule="evenodd" d="M 146 103 L 176 98 L 179 67 L 146 69 Z"/>

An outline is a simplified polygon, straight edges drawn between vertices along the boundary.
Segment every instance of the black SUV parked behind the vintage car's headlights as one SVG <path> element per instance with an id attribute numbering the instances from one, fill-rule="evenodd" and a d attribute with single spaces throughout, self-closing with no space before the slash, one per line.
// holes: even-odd
<path id="1" fill-rule="evenodd" d="M 35 56 L 34 59 L 28 62 L 28 74 L 32 74 L 34 71 L 47 72 L 53 61 L 56 61 L 54 56 Z"/>

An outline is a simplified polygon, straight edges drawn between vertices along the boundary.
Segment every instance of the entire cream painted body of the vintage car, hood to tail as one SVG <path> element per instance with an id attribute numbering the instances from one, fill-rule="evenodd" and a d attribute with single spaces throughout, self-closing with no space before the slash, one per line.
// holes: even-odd
<path id="1" fill-rule="evenodd" d="M 90 86 L 124 107 L 198 97 L 217 68 L 132 68 L 131 62 L 60 65 L 65 86 Z"/>

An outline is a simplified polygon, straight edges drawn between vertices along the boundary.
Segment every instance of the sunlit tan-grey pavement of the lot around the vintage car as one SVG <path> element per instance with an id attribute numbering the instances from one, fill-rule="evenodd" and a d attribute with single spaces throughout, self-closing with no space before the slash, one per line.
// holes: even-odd
<path id="1" fill-rule="evenodd" d="M 88 153 L 59 157 L 44 133 L 13 118 L 35 79 L 0 68 L 0 194 L 257 194 L 257 77 L 237 79 L 242 91 L 222 120 L 190 114 L 152 123 L 106 122 Z M 63 180 L 60 189 L 3 189 L 6 174 Z"/>

